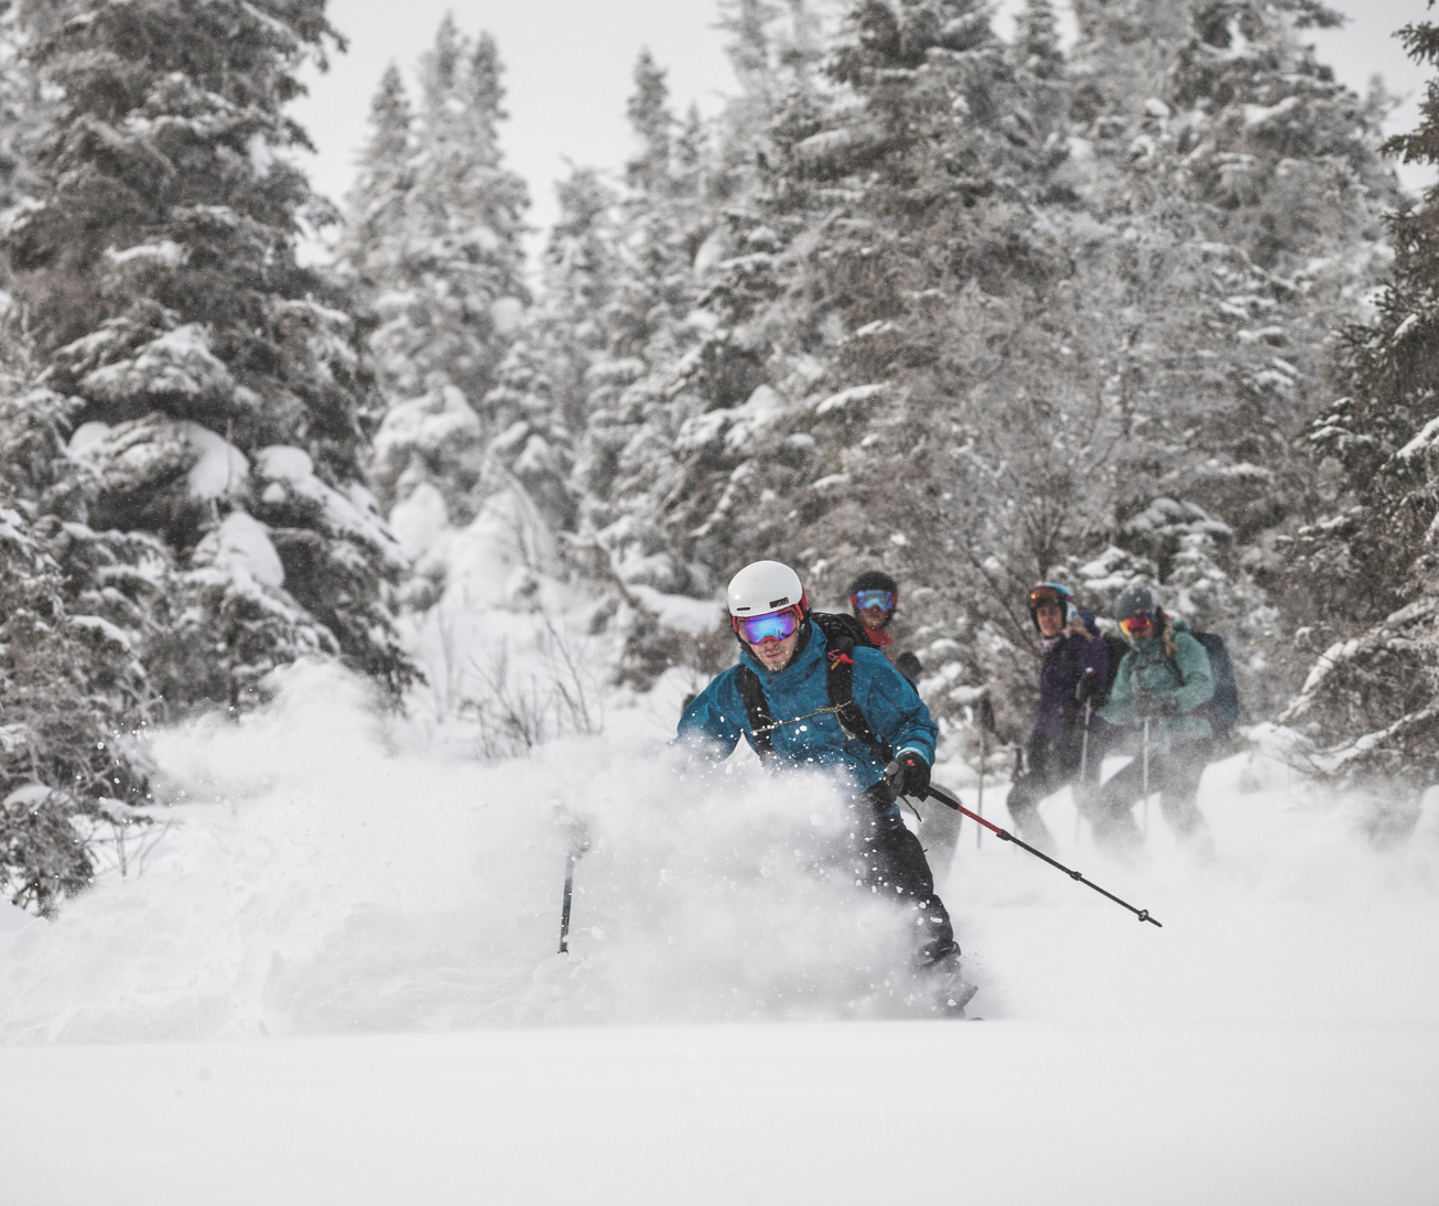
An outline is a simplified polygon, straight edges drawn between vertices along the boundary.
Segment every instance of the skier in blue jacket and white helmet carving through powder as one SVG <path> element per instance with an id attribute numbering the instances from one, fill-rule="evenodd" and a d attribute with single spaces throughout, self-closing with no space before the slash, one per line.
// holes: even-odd
<path id="1" fill-rule="evenodd" d="M 740 662 L 689 702 L 678 740 L 707 748 L 718 761 L 743 737 L 776 771 L 820 771 L 839 780 L 862 813 L 858 843 L 865 881 L 914 902 L 924 922 L 917 927 L 918 963 L 951 971 L 958 984 L 960 951 L 948 912 L 896 802 L 898 796 L 922 796 L 930 786 L 938 734 L 930 709 L 878 649 L 830 648 L 789 566 L 747 566 L 730 583 L 728 604 Z M 856 725 L 846 708 L 848 733 L 830 702 L 835 671 L 849 672 L 861 715 Z M 859 731 L 863 724 L 873 741 Z M 954 993 L 947 1003 L 963 1009 Z"/>

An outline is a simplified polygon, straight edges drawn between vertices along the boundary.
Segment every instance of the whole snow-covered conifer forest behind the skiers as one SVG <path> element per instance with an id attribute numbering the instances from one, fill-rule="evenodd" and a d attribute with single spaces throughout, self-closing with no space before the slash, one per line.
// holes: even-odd
<path id="1" fill-rule="evenodd" d="M 311 190 L 331 16 L 4 9 L 17 902 L 153 820 L 150 725 L 328 658 L 509 756 L 587 722 L 563 599 L 612 682 L 699 679 L 758 557 L 830 607 L 894 573 L 960 757 L 983 692 L 1023 731 L 1033 581 L 1099 613 L 1157 581 L 1229 638 L 1250 722 L 1412 823 L 1439 771 L 1435 263 L 1392 98 L 1309 50 L 1335 12 L 1079 0 L 1063 35 L 1048 0 L 725 0 L 728 95 L 682 108 L 642 52 L 623 170 L 574 166 L 543 232 L 502 47 L 449 17 L 378 81 L 342 207 Z M 1432 163 L 1435 119 L 1387 154 Z M 436 659 L 481 597 L 548 632 L 544 699 Z"/>

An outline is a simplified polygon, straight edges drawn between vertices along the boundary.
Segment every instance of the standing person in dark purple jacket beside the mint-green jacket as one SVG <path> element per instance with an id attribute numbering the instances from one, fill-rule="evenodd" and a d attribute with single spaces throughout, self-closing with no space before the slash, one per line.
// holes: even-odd
<path id="1" fill-rule="evenodd" d="M 1029 591 L 1029 616 L 1043 650 L 1039 666 L 1039 711 L 1026 744 L 1027 770 L 1009 789 L 1009 815 L 1019 836 L 1042 851 L 1055 839 L 1039 816 L 1039 802 L 1066 783 L 1085 790 L 1098 783 L 1104 754 L 1102 722 L 1089 720 L 1089 783 L 1079 784 L 1084 760 L 1085 704 L 1104 702 L 1109 649 L 1088 616 L 1075 607 L 1068 587 L 1046 581 Z"/>

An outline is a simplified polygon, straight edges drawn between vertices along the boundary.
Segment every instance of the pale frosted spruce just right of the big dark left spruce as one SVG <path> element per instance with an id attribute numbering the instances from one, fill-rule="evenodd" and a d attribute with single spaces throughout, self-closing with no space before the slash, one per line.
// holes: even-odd
<path id="1" fill-rule="evenodd" d="M 446 16 L 420 63 L 422 106 L 409 158 L 390 183 L 366 272 L 378 315 L 368 340 L 386 419 L 374 475 L 386 508 L 425 484 L 450 524 L 475 518 L 485 449 L 501 436 L 479 412 L 530 301 L 524 285 L 524 181 L 501 163 L 505 118 L 494 39 L 471 40 Z M 387 75 L 373 112 L 371 151 L 399 160 L 403 108 Z M 370 222 L 363 197 L 351 222 Z M 360 229 L 357 226 L 357 229 Z"/>

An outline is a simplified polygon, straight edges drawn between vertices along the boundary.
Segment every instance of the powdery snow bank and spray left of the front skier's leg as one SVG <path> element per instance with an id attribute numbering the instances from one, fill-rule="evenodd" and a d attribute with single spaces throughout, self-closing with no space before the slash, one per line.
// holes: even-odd
<path id="1" fill-rule="evenodd" d="M 240 724 L 155 741 L 173 828 L 125 879 L 13 934 L 10 1039 L 872 1015 L 908 918 L 806 869 L 846 815 L 753 767 L 682 777 L 656 701 L 484 766 L 414 748 L 298 666 Z M 574 956 L 568 815 L 589 819 Z M 888 983 L 886 983 L 888 981 Z"/>

